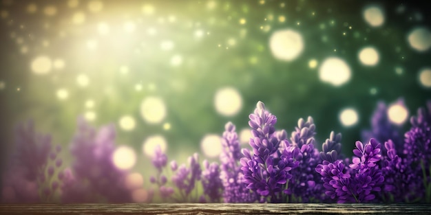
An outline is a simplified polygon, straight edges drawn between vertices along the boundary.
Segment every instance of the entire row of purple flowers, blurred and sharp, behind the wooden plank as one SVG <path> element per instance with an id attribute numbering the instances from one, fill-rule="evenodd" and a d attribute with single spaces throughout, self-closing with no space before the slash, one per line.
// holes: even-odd
<path id="1" fill-rule="evenodd" d="M 399 102 L 402 100 L 399 100 Z M 240 149 L 235 126 L 228 122 L 222 135 L 220 164 L 199 162 L 195 153 L 187 163 L 168 163 L 157 146 L 151 163 L 157 186 L 145 199 L 200 203 L 430 203 L 431 101 L 410 118 L 411 128 L 399 137 L 379 103 L 372 117 L 368 142 L 355 143 L 354 156 L 341 154 L 341 134 L 330 133 L 319 152 L 312 117 L 299 119 L 290 142 L 276 131 L 277 118 L 257 102 L 249 115 L 251 149 Z M 59 170 L 61 147 L 52 149 L 48 135 L 20 124 L 1 184 L 2 203 L 132 202 L 138 194 L 128 170 L 112 159 L 116 133 L 112 124 L 96 130 L 82 118 L 70 145 L 72 165 Z M 374 138 L 376 137 L 376 138 Z M 383 147 L 384 146 L 384 147 Z M 202 165 L 202 168 L 201 168 Z M 168 167 L 169 166 L 169 167 Z M 170 177 L 167 177 L 169 176 Z M 141 183 L 142 184 L 142 183 Z M 202 189 L 200 189 L 202 188 Z M 142 193 L 143 194 L 143 193 Z"/>

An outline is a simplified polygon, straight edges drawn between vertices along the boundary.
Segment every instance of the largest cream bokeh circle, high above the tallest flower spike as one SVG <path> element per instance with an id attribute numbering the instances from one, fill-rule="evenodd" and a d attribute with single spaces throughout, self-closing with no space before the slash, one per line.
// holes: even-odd
<path id="1" fill-rule="evenodd" d="M 269 47 L 275 58 L 291 61 L 302 53 L 304 42 L 301 34 L 294 30 L 277 30 L 269 38 Z"/>

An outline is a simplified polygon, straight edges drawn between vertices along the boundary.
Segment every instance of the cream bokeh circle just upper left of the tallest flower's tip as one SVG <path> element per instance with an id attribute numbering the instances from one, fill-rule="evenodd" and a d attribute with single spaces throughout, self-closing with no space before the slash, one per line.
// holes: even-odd
<path id="1" fill-rule="evenodd" d="M 224 87 L 215 92 L 215 111 L 225 116 L 237 114 L 242 108 L 240 92 L 233 87 Z"/>

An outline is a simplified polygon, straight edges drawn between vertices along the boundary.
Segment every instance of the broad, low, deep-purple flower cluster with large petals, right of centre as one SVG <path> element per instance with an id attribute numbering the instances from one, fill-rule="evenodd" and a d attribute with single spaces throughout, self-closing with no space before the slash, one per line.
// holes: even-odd
<path id="1" fill-rule="evenodd" d="M 325 194 L 338 203 L 365 203 L 376 199 L 381 191 L 384 177 L 377 161 L 381 158 L 381 144 L 370 139 L 367 144 L 356 142 L 353 163 L 345 168 L 344 162 L 337 159 L 333 162 L 324 160 L 317 165 L 316 172 L 322 175 Z M 331 150 L 329 159 L 336 158 L 336 150 Z"/>

